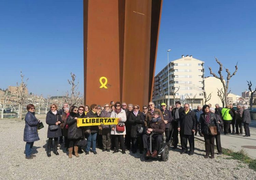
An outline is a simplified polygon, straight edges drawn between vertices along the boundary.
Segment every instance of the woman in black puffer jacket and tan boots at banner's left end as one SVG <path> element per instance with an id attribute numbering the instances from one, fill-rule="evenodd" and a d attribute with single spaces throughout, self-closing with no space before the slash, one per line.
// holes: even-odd
<path id="1" fill-rule="evenodd" d="M 69 128 L 68 128 L 69 158 L 72 158 L 73 146 L 74 146 L 75 156 L 79 157 L 77 143 L 80 139 L 83 138 L 82 128 L 76 126 L 76 121 L 78 119 L 77 112 L 78 112 L 78 108 L 76 106 L 73 106 L 67 119 L 67 125 L 69 125 Z"/>

